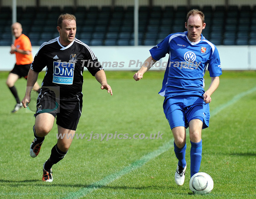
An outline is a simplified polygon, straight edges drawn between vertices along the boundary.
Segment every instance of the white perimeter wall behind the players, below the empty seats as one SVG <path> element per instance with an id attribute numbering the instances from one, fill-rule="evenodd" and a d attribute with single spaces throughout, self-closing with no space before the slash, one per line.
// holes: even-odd
<path id="1" fill-rule="evenodd" d="M 40 46 L 33 46 L 35 56 Z M 137 71 L 146 58 L 150 56 L 152 46 L 91 46 L 94 54 L 104 67 L 110 70 Z M 221 58 L 222 70 L 256 70 L 256 46 L 217 46 Z M 9 53 L 9 46 L 0 46 L 0 71 L 10 71 L 15 64 L 15 55 Z M 151 70 L 164 70 L 168 55 L 155 63 Z"/>

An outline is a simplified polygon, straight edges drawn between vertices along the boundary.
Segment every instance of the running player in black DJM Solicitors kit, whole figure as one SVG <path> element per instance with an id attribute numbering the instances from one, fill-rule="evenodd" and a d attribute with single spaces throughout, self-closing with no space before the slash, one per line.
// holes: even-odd
<path id="1" fill-rule="evenodd" d="M 23 106 L 30 102 L 30 92 L 38 78 L 38 73 L 47 66 L 41 93 L 38 96 L 35 113 L 34 141 L 30 146 L 30 156 L 35 158 L 41 149 L 45 136 L 52 130 L 56 117 L 58 125 L 57 144 L 52 147 L 49 159 L 43 165 L 45 182 L 52 182 L 52 166 L 67 154 L 76 133 L 83 103 L 84 66 L 101 84 L 101 89 L 112 89 L 107 83 L 105 72 L 93 51 L 85 43 L 76 39 L 76 17 L 61 14 L 57 26 L 59 37 L 44 42 L 31 64 Z M 55 88 L 59 93 L 55 93 Z M 57 100 L 58 99 L 58 100 Z M 57 102 L 59 101 L 59 103 Z"/>

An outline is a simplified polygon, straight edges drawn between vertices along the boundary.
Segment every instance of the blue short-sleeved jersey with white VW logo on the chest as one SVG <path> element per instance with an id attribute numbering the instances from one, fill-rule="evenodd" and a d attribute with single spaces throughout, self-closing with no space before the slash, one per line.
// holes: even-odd
<path id="1" fill-rule="evenodd" d="M 202 96 L 207 65 L 211 77 L 222 74 L 218 50 L 203 35 L 198 42 L 191 42 L 187 32 L 171 34 L 149 51 L 156 61 L 169 54 L 163 87 L 159 92 L 162 96 Z"/>

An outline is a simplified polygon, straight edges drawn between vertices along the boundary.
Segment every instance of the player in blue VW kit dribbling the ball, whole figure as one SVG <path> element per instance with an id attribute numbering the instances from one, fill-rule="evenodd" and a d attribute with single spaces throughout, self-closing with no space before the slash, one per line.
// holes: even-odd
<path id="1" fill-rule="evenodd" d="M 178 159 L 175 182 L 179 186 L 185 180 L 186 128 L 189 127 L 190 175 L 193 176 L 199 172 L 201 165 L 201 131 L 209 126 L 210 96 L 218 88 L 222 74 L 216 46 L 201 34 L 205 26 L 203 12 L 196 9 L 188 12 L 185 22 L 187 32 L 171 34 L 150 49 L 151 56 L 134 74 L 134 79 L 139 81 L 156 61 L 169 54 L 159 94 L 165 97 L 163 110 L 174 136 L 174 151 Z M 207 65 L 211 84 L 204 91 Z"/>

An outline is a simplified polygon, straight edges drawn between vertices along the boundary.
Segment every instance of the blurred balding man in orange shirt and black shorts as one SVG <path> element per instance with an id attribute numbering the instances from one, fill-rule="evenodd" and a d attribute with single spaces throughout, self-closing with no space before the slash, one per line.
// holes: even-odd
<path id="1" fill-rule="evenodd" d="M 29 37 L 22 34 L 22 26 L 20 23 L 12 24 L 12 34 L 15 36 L 15 41 L 14 44 L 12 44 L 11 46 L 10 53 L 16 55 L 16 63 L 14 68 L 8 75 L 6 84 L 12 92 L 12 95 L 15 97 L 17 103 L 14 107 L 14 110 L 12 110 L 12 112 L 15 113 L 18 110 L 20 110 L 20 108 L 23 106 L 20 102 L 20 98 L 18 96 L 17 89 L 14 84 L 21 77 L 27 79 L 30 65 L 33 61 L 33 57 L 32 46 Z M 40 92 L 40 87 L 37 82 L 35 82 L 33 89 L 38 93 Z"/>

